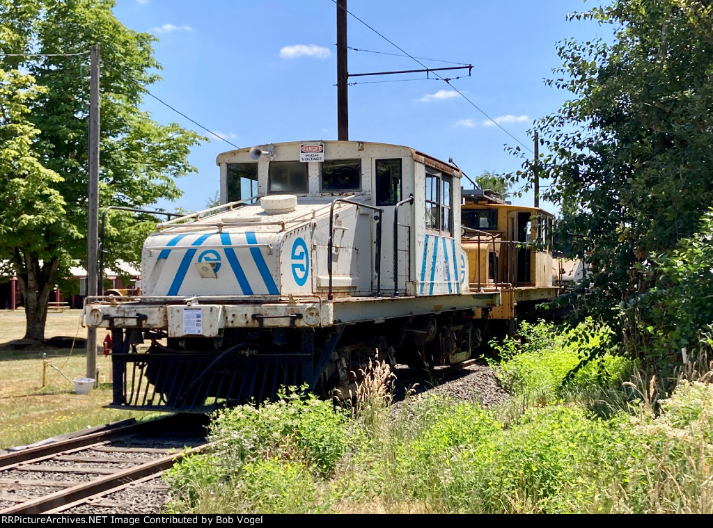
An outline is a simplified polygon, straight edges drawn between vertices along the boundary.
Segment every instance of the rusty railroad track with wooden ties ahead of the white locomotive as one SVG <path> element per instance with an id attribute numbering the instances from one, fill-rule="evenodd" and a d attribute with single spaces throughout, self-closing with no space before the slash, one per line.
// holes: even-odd
<path id="1" fill-rule="evenodd" d="M 160 489 L 161 472 L 205 448 L 206 424 L 172 415 L 2 455 L 0 514 L 124 513 L 128 491 Z"/>

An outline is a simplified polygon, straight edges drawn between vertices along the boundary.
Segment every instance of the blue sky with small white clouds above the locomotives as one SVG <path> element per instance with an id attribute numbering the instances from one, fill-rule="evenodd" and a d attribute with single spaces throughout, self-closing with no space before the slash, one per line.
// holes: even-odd
<path id="1" fill-rule="evenodd" d="M 560 66 L 563 38 L 607 36 L 607 28 L 567 21 L 599 2 L 580 0 L 349 0 L 348 8 L 416 57 L 472 63 L 452 81 L 473 103 L 528 147 L 533 120 L 557 110 L 567 93 L 545 86 Z M 163 81 L 150 87 L 166 103 L 240 147 L 337 139 L 336 5 L 332 0 L 118 0 L 125 26 L 155 34 Z M 348 43 L 401 53 L 351 16 Z M 448 66 L 421 61 L 429 67 Z M 408 57 L 349 52 L 349 73 L 421 68 Z M 458 71 L 443 76 L 461 75 Z M 419 78 L 388 76 L 350 81 Z M 195 125 L 151 98 L 160 123 Z M 518 145 L 443 81 L 349 87 L 349 139 L 408 145 L 453 160 L 466 174 L 510 172 Z M 202 133 L 202 130 L 198 130 Z M 232 146 L 212 137 L 194 147 L 198 174 L 178 180 L 183 197 L 166 209 L 202 209 L 218 189 L 215 157 Z M 463 182 L 464 187 L 470 187 Z M 530 192 L 516 203 L 531 204 Z M 552 207 L 550 207 L 552 209 Z"/>

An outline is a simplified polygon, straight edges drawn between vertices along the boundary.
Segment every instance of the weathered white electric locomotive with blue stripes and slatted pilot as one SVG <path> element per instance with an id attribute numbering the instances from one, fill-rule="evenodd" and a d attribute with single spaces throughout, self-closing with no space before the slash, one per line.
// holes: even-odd
<path id="1" fill-rule="evenodd" d="M 344 393 L 370 358 L 433 366 L 479 345 L 501 293 L 469 285 L 457 167 L 357 141 L 232 150 L 217 165 L 222 205 L 158 224 L 142 295 L 86 300 L 86 323 L 113 336 L 113 406 Z"/>

